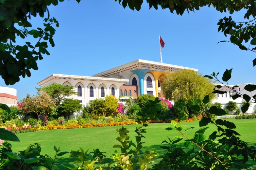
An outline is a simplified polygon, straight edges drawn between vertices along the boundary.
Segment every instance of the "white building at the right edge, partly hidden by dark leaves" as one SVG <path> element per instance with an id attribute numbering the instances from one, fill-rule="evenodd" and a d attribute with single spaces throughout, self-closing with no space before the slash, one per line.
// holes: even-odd
<path id="1" fill-rule="evenodd" d="M 242 102 L 245 102 L 245 100 L 242 97 L 238 97 L 237 99 L 233 100 L 231 98 L 231 96 L 235 95 L 235 93 L 237 93 L 237 92 L 239 92 L 241 94 L 247 94 L 250 97 L 255 95 L 256 91 L 248 92 L 248 91 L 244 90 L 244 88 L 247 84 L 255 84 L 256 85 L 256 83 L 237 84 L 236 86 L 238 86 L 238 87 L 235 87 L 233 90 L 230 90 L 228 87 L 224 86 L 223 84 L 216 84 L 216 85 L 221 85 L 222 86 L 220 89 L 216 89 L 216 90 L 221 90 L 221 91 L 224 91 L 224 92 L 226 91 L 227 93 L 225 93 L 225 94 L 216 94 L 217 99 L 214 99 L 212 102 L 213 103 L 218 102 L 223 107 L 225 107 L 229 101 L 234 101 L 234 102 L 236 102 L 236 104 L 239 106 L 239 108 L 241 110 Z M 235 85 L 227 85 L 227 86 L 229 86 L 232 89 L 232 87 L 234 87 Z M 249 103 L 251 104 L 251 106 L 247 110 L 247 113 L 253 113 L 253 111 L 255 111 L 255 109 L 256 109 L 256 104 L 252 100 L 250 100 Z"/>

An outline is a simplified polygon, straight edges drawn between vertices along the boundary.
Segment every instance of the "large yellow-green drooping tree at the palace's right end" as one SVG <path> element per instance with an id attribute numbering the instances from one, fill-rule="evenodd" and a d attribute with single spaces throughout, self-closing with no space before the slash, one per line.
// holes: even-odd
<path id="1" fill-rule="evenodd" d="M 204 78 L 201 73 L 184 69 L 175 73 L 166 73 L 162 91 L 166 99 L 174 102 L 182 100 L 187 104 L 191 100 L 202 100 L 205 95 L 209 95 L 210 100 L 214 99 L 213 88 L 213 81 Z"/>

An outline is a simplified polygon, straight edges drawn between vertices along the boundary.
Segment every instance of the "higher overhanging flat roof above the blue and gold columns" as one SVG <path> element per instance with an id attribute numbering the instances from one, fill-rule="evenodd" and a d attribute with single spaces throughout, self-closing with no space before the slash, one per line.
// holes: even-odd
<path id="1" fill-rule="evenodd" d="M 111 68 L 109 70 L 94 74 L 93 77 L 110 77 L 110 76 L 118 75 L 120 73 L 130 72 L 133 69 L 140 69 L 140 68 L 149 68 L 151 69 L 151 71 L 155 71 L 155 70 L 175 71 L 179 69 L 190 69 L 190 70 L 198 71 L 198 69 L 195 69 L 195 68 L 138 59 L 123 65 Z"/>

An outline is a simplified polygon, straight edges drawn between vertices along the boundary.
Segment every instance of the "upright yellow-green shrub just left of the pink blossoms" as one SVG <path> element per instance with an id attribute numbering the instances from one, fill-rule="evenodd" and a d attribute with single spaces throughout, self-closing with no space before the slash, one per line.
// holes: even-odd
<path id="1" fill-rule="evenodd" d="M 112 116 L 117 111 L 118 99 L 112 95 L 105 96 L 104 107 L 106 109 L 106 116 Z"/>

